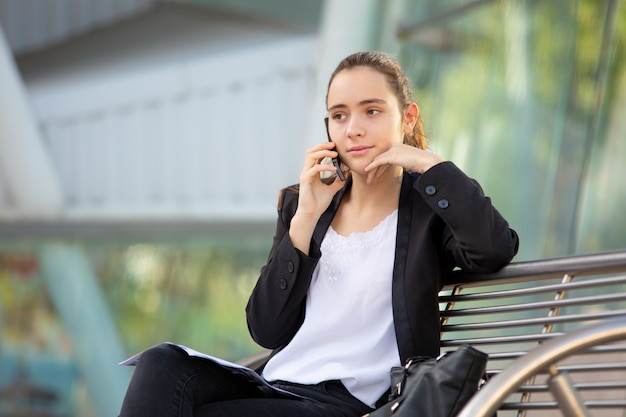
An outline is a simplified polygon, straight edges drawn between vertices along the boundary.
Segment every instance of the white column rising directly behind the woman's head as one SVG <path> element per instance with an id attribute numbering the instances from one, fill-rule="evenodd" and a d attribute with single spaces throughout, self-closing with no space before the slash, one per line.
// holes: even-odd
<path id="1" fill-rule="evenodd" d="M 378 0 L 326 0 L 317 45 L 317 81 L 310 111 L 308 145 L 326 139 L 326 89 L 333 70 L 347 55 L 374 45 Z M 304 155 L 303 155 L 304 157 Z"/>

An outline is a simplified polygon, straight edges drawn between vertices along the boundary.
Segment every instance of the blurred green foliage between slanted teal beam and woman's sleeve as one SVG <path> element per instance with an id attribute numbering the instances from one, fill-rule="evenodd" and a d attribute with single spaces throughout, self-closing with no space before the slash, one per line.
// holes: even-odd
<path id="1" fill-rule="evenodd" d="M 174 341 L 237 360 L 259 350 L 244 309 L 265 256 L 137 244 L 107 252 L 98 275 L 129 354 Z"/>

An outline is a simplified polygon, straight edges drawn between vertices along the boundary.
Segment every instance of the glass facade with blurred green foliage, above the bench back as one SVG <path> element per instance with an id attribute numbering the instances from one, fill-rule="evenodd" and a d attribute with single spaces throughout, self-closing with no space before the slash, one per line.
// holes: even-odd
<path id="1" fill-rule="evenodd" d="M 518 259 L 624 248 L 624 2 L 446 4 L 409 2 L 398 31 L 431 147 L 493 196 Z"/>

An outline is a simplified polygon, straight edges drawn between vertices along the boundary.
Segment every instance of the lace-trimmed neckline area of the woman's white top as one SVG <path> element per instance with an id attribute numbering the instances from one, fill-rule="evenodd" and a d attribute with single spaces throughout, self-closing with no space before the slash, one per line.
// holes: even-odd
<path id="1" fill-rule="evenodd" d="M 331 283 L 337 281 L 356 259 L 363 259 L 363 256 L 367 255 L 365 251 L 368 248 L 382 240 L 390 221 L 397 214 L 396 209 L 372 230 L 352 232 L 348 236 L 340 235 L 330 226 L 320 246 L 323 253 L 320 259 L 322 276 L 325 276 Z"/>

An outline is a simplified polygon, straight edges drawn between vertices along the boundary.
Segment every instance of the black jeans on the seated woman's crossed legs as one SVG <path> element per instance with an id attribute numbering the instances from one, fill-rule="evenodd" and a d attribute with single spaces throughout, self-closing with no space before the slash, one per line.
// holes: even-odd
<path id="1" fill-rule="evenodd" d="M 213 362 L 158 345 L 137 363 L 120 417 L 358 417 L 372 411 L 339 381 L 274 385 L 305 398 L 263 390 Z"/>

